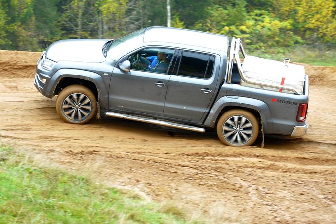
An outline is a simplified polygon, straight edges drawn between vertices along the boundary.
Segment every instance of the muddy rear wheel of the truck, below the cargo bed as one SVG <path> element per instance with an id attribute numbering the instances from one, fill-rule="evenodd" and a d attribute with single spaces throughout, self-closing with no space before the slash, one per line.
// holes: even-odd
<path id="1" fill-rule="evenodd" d="M 233 109 L 223 113 L 217 123 L 219 139 L 229 146 L 250 146 L 259 133 L 255 116 L 248 111 Z"/>

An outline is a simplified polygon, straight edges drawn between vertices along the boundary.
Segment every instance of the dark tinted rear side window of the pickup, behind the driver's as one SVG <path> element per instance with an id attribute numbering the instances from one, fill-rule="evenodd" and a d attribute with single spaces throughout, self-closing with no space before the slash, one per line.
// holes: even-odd
<path id="1" fill-rule="evenodd" d="M 212 75 L 214 56 L 183 51 L 177 75 L 208 79 Z"/>

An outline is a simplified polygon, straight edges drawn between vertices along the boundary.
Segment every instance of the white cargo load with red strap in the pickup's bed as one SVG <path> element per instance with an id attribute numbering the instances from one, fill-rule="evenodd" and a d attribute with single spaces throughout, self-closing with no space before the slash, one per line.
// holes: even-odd
<path id="1" fill-rule="evenodd" d="M 266 85 L 282 85 L 285 88 L 294 89 L 300 95 L 303 94 L 305 71 L 304 66 L 302 65 L 288 64 L 286 66 L 280 61 L 246 55 L 243 62 L 243 76 L 248 82 L 251 81 Z M 262 89 L 293 93 L 287 90 L 258 86 L 243 81 L 241 84 Z"/>

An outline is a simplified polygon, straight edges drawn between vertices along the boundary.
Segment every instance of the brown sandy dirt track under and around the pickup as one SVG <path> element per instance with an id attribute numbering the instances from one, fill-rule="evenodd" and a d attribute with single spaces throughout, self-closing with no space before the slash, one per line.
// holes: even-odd
<path id="1" fill-rule="evenodd" d="M 0 51 L 0 143 L 50 164 L 90 173 L 110 186 L 166 199 L 209 223 L 334 223 L 336 220 L 336 68 L 306 65 L 309 133 L 224 146 L 199 134 L 121 119 L 64 123 L 55 98 L 33 85 L 41 53 Z"/>

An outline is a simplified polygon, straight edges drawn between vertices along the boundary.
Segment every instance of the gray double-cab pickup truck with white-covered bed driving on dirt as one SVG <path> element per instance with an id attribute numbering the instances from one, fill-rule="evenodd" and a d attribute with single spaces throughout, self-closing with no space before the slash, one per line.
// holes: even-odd
<path id="1" fill-rule="evenodd" d="M 149 27 L 113 40 L 61 40 L 42 53 L 35 87 L 58 95 L 68 123 L 97 115 L 205 132 L 230 146 L 259 133 L 300 137 L 307 131 L 304 68 L 249 56 L 240 39 Z"/>

